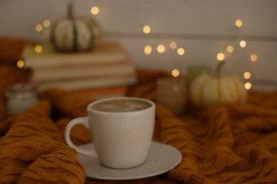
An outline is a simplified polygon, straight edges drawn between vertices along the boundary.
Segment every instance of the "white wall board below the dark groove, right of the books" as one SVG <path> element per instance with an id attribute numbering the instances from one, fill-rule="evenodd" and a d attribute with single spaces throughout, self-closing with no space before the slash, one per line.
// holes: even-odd
<path id="1" fill-rule="evenodd" d="M 226 74 L 243 74 L 244 71 L 250 71 L 253 79 L 277 79 L 277 42 L 247 42 L 246 47 L 241 48 L 238 41 L 174 40 L 178 47 L 185 49 L 185 54 L 180 56 L 176 50 L 169 48 L 170 41 L 172 40 L 121 39 L 137 67 L 148 66 L 166 71 L 179 69 L 185 74 L 186 67 L 193 64 L 205 64 L 214 68 L 218 63 L 217 54 L 222 52 L 226 56 L 227 64 L 223 69 Z M 165 52 L 156 51 L 159 44 L 165 45 Z M 150 55 L 143 54 L 145 45 L 153 47 Z M 227 52 L 228 45 L 234 47 L 234 52 Z M 256 62 L 251 62 L 251 54 L 257 55 Z"/>

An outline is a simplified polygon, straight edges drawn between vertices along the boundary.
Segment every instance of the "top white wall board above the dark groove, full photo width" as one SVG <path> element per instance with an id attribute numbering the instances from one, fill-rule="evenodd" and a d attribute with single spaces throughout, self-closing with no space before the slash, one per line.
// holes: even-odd
<path id="1" fill-rule="evenodd" d="M 38 38 L 34 26 L 45 19 L 54 21 L 66 15 L 69 1 L 4 0 L 0 2 L 1 35 Z M 73 1 L 75 14 L 92 16 L 90 8 L 99 6 L 94 16 L 104 31 L 140 33 L 149 24 L 153 33 L 201 35 L 277 35 L 276 0 L 99 0 Z M 244 25 L 238 29 L 238 18 Z"/>

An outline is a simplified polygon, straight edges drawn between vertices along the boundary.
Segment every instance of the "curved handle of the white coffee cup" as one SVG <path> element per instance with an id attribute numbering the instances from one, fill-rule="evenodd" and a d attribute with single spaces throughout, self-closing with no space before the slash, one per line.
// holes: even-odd
<path id="1" fill-rule="evenodd" d="M 75 119 L 68 122 L 67 126 L 65 127 L 65 142 L 67 143 L 68 146 L 72 147 L 73 149 L 76 149 L 76 151 L 79 154 L 84 154 L 86 156 L 92 156 L 92 157 L 98 158 L 97 153 L 96 153 L 94 148 L 92 148 L 92 149 L 83 149 L 79 146 L 76 146 L 71 141 L 70 131 L 71 131 L 72 127 L 74 127 L 75 125 L 78 125 L 78 124 L 84 125 L 87 128 L 87 130 L 89 130 L 88 118 L 87 117 L 76 117 Z"/>

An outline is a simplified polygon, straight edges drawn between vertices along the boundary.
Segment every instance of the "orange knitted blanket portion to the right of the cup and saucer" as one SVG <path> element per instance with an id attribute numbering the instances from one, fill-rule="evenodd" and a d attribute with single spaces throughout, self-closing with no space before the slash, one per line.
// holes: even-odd
<path id="1" fill-rule="evenodd" d="M 136 86 L 133 96 L 155 100 Z M 168 177 L 181 183 L 277 183 L 277 93 L 250 92 L 246 103 L 188 107 L 177 117 L 156 103 L 153 139 L 178 148 L 183 159 Z"/>

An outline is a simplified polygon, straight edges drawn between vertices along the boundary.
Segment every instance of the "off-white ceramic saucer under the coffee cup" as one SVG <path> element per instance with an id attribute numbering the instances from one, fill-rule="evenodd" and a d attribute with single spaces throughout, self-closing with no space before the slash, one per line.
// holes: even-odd
<path id="1" fill-rule="evenodd" d="M 80 147 L 88 148 L 92 144 L 84 144 Z M 77 159 L 85 167 L 85 175 L 90 178 L 104 180 L 131 180 L 147 178 L 170 171 L 182 160 L 182 154 L 178 149 L 167 144 L 152 142 L 146 162 L 141 166 L 126 169 L 113 169 L 102 166 L 99 159 L 77 154 Z"/>

